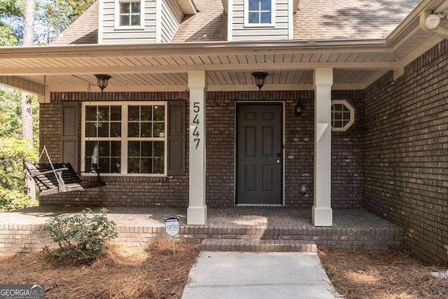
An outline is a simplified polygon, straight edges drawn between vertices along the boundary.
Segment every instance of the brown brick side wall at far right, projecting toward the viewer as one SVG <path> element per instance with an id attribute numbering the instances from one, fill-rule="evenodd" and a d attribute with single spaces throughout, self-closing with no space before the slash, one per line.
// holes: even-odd
<path id="1" fill-rule="evenodd" d="M 405 246 L 448 262 L 448 43 L 367 88 L 364 197 L 405 228 Z"/>

